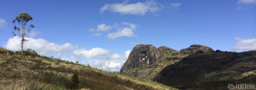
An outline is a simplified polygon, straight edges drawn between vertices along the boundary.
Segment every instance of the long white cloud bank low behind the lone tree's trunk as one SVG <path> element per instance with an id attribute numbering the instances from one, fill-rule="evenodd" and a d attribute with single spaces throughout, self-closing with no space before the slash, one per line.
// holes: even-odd
<path id="1" fill-rule="evenodd" d="M 44 39 L 33 39 L 33 38 L 25 38 L 26 43 L 23 47 L 23 50 L 32 49 L 35 50 L 39 54 L 48 55 L 57 53 L 58 56 L 65 55 L 70 53 L 72 50 L 75 50 L 78 46 L 73 46 L 70 43 L 65 43 L 63 45 L 58 45 L 56 43 L 50 43 Z M 13 38 L 9 38 L 7 44 L 5 45 L 6 49 L 9 50 L 21 50 L 20 47 L 20 37 L 15 36 Z"/>

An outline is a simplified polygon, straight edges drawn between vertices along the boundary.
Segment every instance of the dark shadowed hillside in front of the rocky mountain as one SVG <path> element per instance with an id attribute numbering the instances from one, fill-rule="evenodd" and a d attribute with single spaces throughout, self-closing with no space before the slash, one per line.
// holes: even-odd
<path id="1" fill-rule="evenodd" d="M 248 72 L 254 74 L 241 76 Z M 182 90 L 227 90 L 230 83 L 256 85 L 255 73 L 256 51 L 198 52 L 167 66 L 154 80 Z"/>

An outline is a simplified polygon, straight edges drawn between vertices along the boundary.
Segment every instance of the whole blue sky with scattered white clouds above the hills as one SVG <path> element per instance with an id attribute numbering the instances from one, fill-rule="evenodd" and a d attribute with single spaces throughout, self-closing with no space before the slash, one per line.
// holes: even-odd
<path id="1" fill-rule="evenodd" d="M 105 70 L 136 44 L 256 50 L 256 0 L 0 0 L 1 47 L 19 50 L 11 21 L 24 12 L 35 26 L 25 48 Z"/>

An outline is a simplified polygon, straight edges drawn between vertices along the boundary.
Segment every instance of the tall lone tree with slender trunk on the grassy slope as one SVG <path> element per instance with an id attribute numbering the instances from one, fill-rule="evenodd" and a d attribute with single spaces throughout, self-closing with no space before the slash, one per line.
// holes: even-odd
<path id="1" fill-rule="evenodd" d="M 27 13 L 20 13 L 19 16 L 17 16 L 14 20 L 12 20 L 12 23 L 14 24 L 13 29 L 17 31 L 21 36 L 20 46 L 22 48 L 22 54 L 23 54 L 23 46 L 25 45 L 25 42 L 28 41 L 25 39 L 25 37 L 27 36 L 28 32 L 30 32 L 30 30 L 34 28 L 34 25 L 30 24 L 29 28 L 26 29 L 27 22 L 30 20 L 33 20 L 33 18 Z M 12 33 L 14 36 L 16 36 L 16 33 L 14 31 Z"/>

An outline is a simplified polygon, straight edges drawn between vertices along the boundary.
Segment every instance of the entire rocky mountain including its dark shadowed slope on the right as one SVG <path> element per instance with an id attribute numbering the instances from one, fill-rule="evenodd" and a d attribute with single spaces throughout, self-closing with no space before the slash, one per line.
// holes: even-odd
<path id="1" fill-rule="evenodd" d="M 256 51 L 214 51 L 202 45 L 178 51 L 137 45 L 121 73 L 182 90 L 226 90 L 230 83 L 256 85 Z"/>

